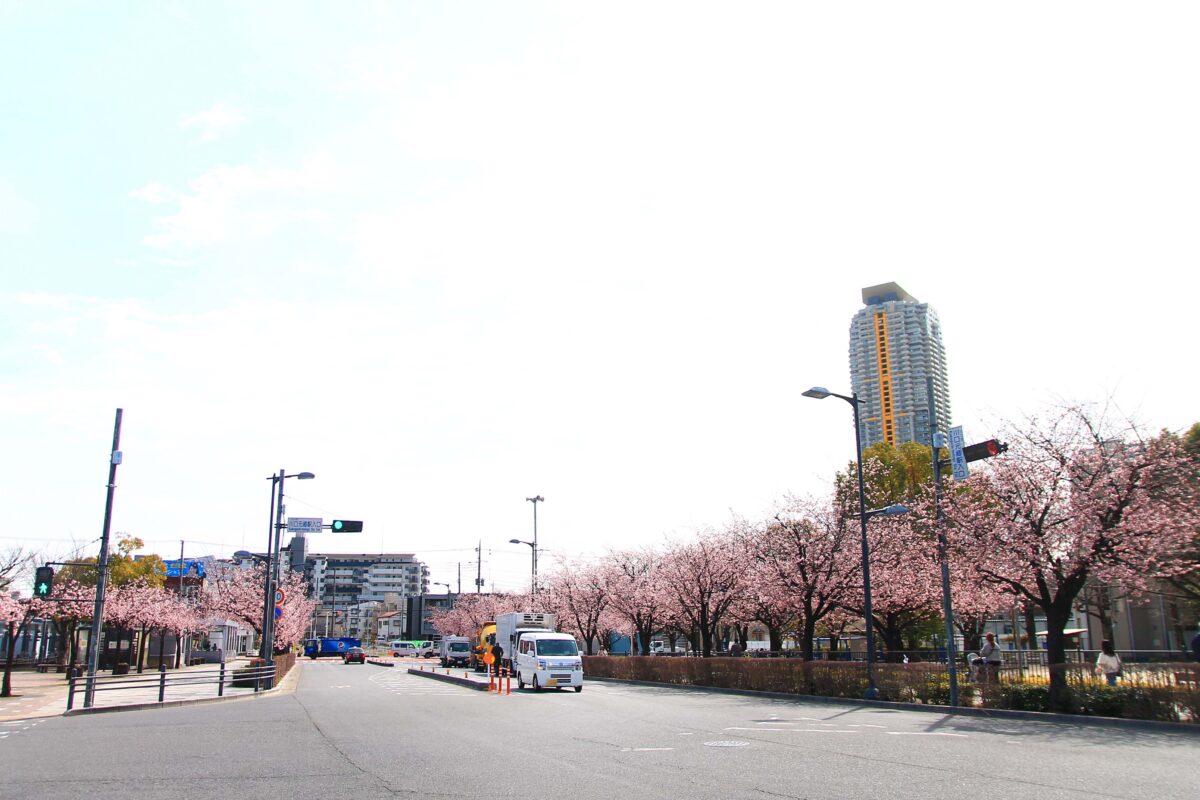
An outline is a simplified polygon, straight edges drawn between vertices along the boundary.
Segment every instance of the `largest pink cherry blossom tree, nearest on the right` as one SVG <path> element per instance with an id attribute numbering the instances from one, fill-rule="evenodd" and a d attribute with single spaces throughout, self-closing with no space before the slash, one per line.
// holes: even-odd
<path id="1" fill-rule="evenodd" d="M 1184 572 L 1178 559 L 1200 525 L 1194 465 L 1176 443 L 1146 440 L 1090 409 L 1069 408 L 1008 432 L 1009 450 L 946 501 L 953 555 L 1046 616 L 1051 664 L 1090 579 L 1144 591 Z M 1051 669 L 1056 708 L 1066 676 Z"/>

